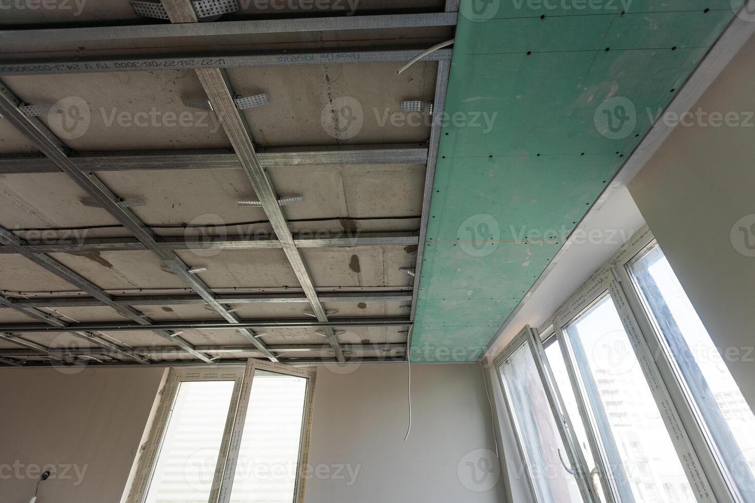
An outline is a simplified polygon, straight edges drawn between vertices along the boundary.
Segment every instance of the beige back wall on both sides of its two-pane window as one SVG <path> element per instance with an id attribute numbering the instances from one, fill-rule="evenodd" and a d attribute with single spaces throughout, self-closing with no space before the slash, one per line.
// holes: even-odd
<path id="1" fill-rule="evenodd" d="M 485 473 L 496 460 L 481 367 L 412 365 L 411 373 L 414 419 L 404 443 L 404 365 L 347 373 L 319 367 L 307 503 L 504 501 L 500 471 Z M 71 478 L 43 483 L 39 503 L 119 501 L 162 374 L 143 367 L 75 375 L 0 370 L 0 501 L 29 501 L 34 467 L 48 464 L 59 473 L 72 465 Z"/>

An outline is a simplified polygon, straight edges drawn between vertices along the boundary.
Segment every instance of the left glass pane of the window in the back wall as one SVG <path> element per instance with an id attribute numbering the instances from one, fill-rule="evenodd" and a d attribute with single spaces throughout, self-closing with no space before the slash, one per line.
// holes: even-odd
<path id="1" fill-rule="evenodd" d="M 233 381 L 181 382 L 160 444 L 146 503 L 206 503 L 223 440 Z"/>

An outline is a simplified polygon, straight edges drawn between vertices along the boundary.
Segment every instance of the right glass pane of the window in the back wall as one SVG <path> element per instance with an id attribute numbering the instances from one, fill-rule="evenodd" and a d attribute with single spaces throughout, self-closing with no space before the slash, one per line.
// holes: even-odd
<path id="1" fill-rule="evenodd" d="M 254 371 L 231 501 L 294 501 L 307 379 Z"/>

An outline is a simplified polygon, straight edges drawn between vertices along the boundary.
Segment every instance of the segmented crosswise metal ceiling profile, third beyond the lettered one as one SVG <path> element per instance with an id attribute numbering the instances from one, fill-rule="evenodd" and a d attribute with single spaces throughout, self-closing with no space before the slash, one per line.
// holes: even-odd
<path id="1" fill-rule="evenodd" d="M 322 302 L 406 302 L 411 292 L 333 292 L 318 293 Z M 239 295 L 215 295 L 222 304 L 306 304 L 310 301 L 304 293 L 251 293 Z M 8 299 L 23 308 L 83 308 L 103 305 L 94 297 L 37 297 L 33 299 Z M 198 295 L 114 296 L 119 305 L 199 305 L 206 304 Z M 2 302 L 0 302 L 2 304 Z M 2 307 L 2 305 L 0 305 Z"/>

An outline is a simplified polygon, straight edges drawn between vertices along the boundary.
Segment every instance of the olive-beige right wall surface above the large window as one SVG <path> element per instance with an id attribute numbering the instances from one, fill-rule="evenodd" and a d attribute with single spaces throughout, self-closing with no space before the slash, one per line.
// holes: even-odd
<path id="1" fill-rule="evenodd" d="M 713 341 L 741 354 L 727 364 L 755 409 L 755 256 L 731 236 L 742 216 L 755 223 L 753 68 L 750 38 L 693 108 L 740 112 L 749 127 L 677 126 L 629 189 Z"/>

